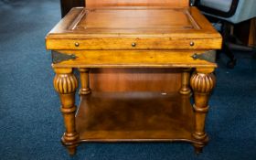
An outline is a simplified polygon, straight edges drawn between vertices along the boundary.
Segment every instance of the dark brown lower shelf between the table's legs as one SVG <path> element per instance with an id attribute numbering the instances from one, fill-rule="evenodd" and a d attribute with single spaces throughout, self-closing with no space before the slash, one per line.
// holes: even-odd
<path id="1" fill-rule="evenodd" d="M 194 143 L 193 108 L 189 96 L 178 93 L 92 92 L 81 96 L 76 123 L 80 143 Z"/>

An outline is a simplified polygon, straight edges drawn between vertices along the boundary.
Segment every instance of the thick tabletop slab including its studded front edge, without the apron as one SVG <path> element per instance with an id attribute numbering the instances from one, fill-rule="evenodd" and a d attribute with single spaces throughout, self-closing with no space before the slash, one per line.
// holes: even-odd
<path id="1" fill-rule="evenodd" d="M 127 14 L 128 11 L 133 14 Z M 155 16 L 151 17 L 153 13 Z M 222 40 L 219 33 L 195 7 L 115 7 L 74 8 L 48 34 L 46 43 L 48 49 L 56 50 L 192 50 L 217 49 L 221 47 Z"/>

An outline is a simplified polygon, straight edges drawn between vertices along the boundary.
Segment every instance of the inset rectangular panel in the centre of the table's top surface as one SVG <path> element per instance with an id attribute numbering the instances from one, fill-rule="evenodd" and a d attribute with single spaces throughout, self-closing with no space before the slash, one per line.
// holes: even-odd
<path id="1" fill-rule="evenodd" d="M 176 18 L 179 20 L 176 20 Z M 199 29 L 185 9 L 99 8 L 85 12 L 73 30 L 87 33 L 169 33 Z"/>

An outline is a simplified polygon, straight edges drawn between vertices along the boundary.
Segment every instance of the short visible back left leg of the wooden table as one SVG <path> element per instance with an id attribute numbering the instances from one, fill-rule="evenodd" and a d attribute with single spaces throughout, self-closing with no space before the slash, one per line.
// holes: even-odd
<path id="1" fill-rule="evenodd" d="M 81 68 L 80 70 L 80 95 L 86 95 L 91 93 L 89 82 L 89 70 Z"/>

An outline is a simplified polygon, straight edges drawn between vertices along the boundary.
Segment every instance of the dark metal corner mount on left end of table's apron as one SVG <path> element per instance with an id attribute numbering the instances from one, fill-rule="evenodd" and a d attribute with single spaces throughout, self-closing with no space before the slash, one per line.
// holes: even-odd
<path id="1" fill-rule="evenodd" d="M 52 50 L 51 52 L 52 56 L 52 63 L 53 64 L 58 64 L 62 61 L 66 61 L 69 59 L 77 59 L 78 57 L 74 54 L 64 54 L 64 53 L 59 53 L 58 51 Z"/>

